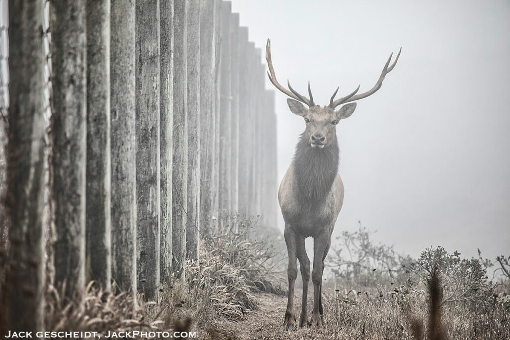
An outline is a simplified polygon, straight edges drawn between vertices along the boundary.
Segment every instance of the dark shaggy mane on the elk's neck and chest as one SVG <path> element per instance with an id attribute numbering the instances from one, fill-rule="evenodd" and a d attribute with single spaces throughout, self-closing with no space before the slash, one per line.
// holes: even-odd
<path id="1" fill-rule="evenodd" d="M 319 200 L 326 195 L 337 176 L 339 149 L 335 139 L 329 147 L 312 148 L 301 135 L 294 154 L 294 175 L 300 196 Z"/>

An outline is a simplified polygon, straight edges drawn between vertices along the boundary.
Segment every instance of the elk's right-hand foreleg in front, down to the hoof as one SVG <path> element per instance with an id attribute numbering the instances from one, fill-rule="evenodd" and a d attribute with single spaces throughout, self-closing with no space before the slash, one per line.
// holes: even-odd
<path id="1" fill-rule="evenodd" d="M 323 232 L 314 239 L 314 268 L 312 270 L 312 282 L 314 284 L 314 309 L 312 310 L 311 323 L 314 326 L 322 324 L 321 284 L 322 272 L 324 271 L 324 253 L 329 248 L 329 233 Z"/>

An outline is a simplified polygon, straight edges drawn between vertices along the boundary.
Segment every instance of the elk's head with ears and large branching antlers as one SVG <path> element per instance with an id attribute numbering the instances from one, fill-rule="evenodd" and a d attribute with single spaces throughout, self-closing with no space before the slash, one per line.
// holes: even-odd
<path id="1" fill-rule="evenodd" d="M 356 108 L 356 103 L 351 102 L 354 100 L 358 100 L 361 98 L 368 97 L 375 91 L 377 91 L 381 85 L 382 81 L 384 81 L 386 75 L 393 70 L 395 65 L 397 64 L 398 57 L 400 57 L 400 52 L 402 48 L 400 47 L 400 51 L 398 52 L 397 58 L 390 66 L 391 59 L 393 57 L 393 53 L 390 55 L 390 58 L 386 62 L 385 67 L 382 69 L 381 74 L 379 75 L 379 79 L 375 83 L 375 85 L 368 91 L 358 93 L 360 89 L 360 85 L 349 93 L 348 95 L 338 98 L 335 100 L 335 96 L 338 92 L 338 87 L 331 96 L 329 100 L 329 104 L 327 106 L 321 107 L 314 102 L 314 98 L 312 96 L 312 90 L 310 89 L 310 82 L 308 82 L 308 93 L 310 98 L 301 95 L 299 92 L 294 90 L 290 85 L 290 82 L 287 80 L 287 84 L 289 89 L 286 89 L 282 85 L 278 83 L 276 80 L 276 74 L 274 73 L 273 62 L 271 60 L 271 40 L 267 40 L 266 46 L 266 59 L 269 66 L 269 71 L 267 74 L 269 75 L 269 80 L 273 85 L 283 93 L 287 94 L 289 97 L 287 99 L 287 103 L 289 104 L 290 111 L 295 115 L 301 116 L 304 118 L 304 122 L 307 125 L 307 128 L 304 130 L 303 138 L 309 141 L 309 144 L 312 148 L 322 149 L 324 147 L 330 146 L 332 143 L 336 142 L 336 126 L 338 122 L 342 119 L 350 117 L 350 115 L 354 112 Z M 289 91 L 290 90 L 290 91 Z M 301 102 L 308 105 L 308 108 L 304 107 Z M 335 110 L 337 106 L 340 104 L 346 103 L 339 110 Z"/>

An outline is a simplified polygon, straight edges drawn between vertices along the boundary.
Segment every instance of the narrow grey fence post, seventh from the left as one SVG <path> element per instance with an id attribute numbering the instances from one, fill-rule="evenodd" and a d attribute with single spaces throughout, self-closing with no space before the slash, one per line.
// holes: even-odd
<path id="1" fill-rule="evenodd" d="M 188 205 L 188 93 L 186 0 L 173 2 L 172 272 L 184 280 Z"/>

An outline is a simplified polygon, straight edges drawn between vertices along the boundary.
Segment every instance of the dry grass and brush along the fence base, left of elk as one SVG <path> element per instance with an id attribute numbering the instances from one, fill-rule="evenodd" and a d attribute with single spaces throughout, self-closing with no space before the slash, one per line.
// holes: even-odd
<path id="1" fill-rule="evenodd" d="M 214 320 L 245 320 L 248 313 L 258 309 L 255 292 L 284 293 L 282 281 L 275 279 L 278 274 L 274 273 L 274 249 L 269 242 L 249 236 L 253 223 L 237 216 L 225 217 L 221 227 L 203 240 L 199 262 L 187 261 L 184 281 L 172 279 L 173 283 L 161 287 L 159 302 L 144 302 L 139 296 L 139 305 L 134 306 L 132 295 L 103 292 L 93 282 L 84 289 L 80 300 L 68 302 L 50 285 L 46 294 L 45 330 L 106 334 L 107 331 L 170 331 L 183 324 L 192 330 L 205 330 Z M 0 264 L 8 268 L 4 255 L 0 253 Z M 0 273 L 0 281 L 5 289 L 4 274 L 5 271 Z"/>

